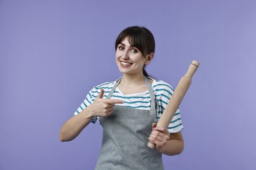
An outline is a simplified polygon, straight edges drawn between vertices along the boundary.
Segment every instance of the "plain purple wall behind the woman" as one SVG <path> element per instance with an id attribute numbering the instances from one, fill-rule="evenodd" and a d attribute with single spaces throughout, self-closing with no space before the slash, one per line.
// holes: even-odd
<path id="1" fill-rule="evenodd" d="M 165 169 L 256 169 L 256 1 L 0 1 L 0 169 L 93 169 L 102 129 L 58 132 L 96 84 L 120 76 L 114 41 L 148 27 L 148 73 L 177 86 L 185 149 Z M 165 74 L 163 74 L 165 73 Z"/>

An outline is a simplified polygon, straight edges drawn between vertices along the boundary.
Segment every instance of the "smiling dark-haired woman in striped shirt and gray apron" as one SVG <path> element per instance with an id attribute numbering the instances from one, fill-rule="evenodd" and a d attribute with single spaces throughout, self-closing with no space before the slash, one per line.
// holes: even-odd
<path id="1" fill-rule="evenodd" d="M 168 128 L 156 127 L 173 90 L 144 69 L 154 50 L 148 29 L 124 29 L 116 39 L 116 63 L 123 76 L 95 86 L 60 130 L 60 141 L 71 141 L 98 119 L 103 139 L 95 169 L 163 169 L 161 154 L 180 154 L 184 148 L 179 109 Z M 146 146 L 148 140 L 155 150 Z"/>

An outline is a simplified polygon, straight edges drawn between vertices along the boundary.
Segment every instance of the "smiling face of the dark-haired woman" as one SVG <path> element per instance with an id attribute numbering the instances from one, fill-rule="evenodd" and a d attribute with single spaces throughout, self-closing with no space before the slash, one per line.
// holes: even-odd
<path id="1" fill-rule="evenodd" d="M 118 44 L 116 50 L 116 63 L 119 71 L 123 74 L 142 73 L 146 59 L 139 49 L 131 46 L 127 37 Z"/>

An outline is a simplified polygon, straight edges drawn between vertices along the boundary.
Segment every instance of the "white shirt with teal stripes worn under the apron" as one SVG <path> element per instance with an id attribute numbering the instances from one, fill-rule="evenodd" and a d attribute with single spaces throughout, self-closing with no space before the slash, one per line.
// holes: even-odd
<path id="1" fill-rule="evenodd" d="M 159 112 L 156 117 L 157 120 L 159 120 L 161 117 L 161 114 L 163 113 L 163 110 L 165 110 L 165 107 L 170 100 L 171 95 L 173 95 L 173 88 L 166 82 L 163 82 L 162 80 L 154 80 L 153 78 L 151 79 L 153 80 L 152 87 L 159 105 Z M 91 103 L 95 101 L 96 97 L 98 97 L 98 94 L 100 93 L 100 89 L 104 90 L 104 95 L 102 98 L 106 99 L 106 97 L 108 96 L 108 93 L 110 93 L 110 91 L 114 87 L 114 84 L 116 84 L 116 81 L 105 82 L 103 84 L 93 87 L 93 89 L 85 97 L 84 101 L 75 111 L 74 115 L 79 114 L 83 109 L 85 109 L 85 107 L 88 107 L 89 105 L 91 105 Z M 125 103 L 116 104 L 116 105 L 132 107 L 135 109 L 150 110 L 150 94 L 148 90 L 146 92 L 127 95 L 121 92 L 121 90 L 119 90 L 119 88 L 117 87 L 111 99 L 120 99 L 125 102 Z M 98 118 L 95 117 L 92 119 L 91 122 L 95 123 L 97 119 Z M 180 110 L 178 109 L 175 113 L 175 116 L 173 116 L 173 119 L 171 120 L 168 126 L 168 131 L 170 133 L 177 133 L 181 131 L 182 128 L 183 126 L 181 121 L 181 114 L 180 114 Z"/>

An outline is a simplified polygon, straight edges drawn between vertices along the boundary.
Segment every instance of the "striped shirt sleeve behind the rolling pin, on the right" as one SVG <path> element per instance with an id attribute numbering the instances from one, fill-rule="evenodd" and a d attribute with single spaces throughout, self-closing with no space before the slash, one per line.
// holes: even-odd
<path id="1" fill-rule="evenodd" d="M 156 86 L 156 91 L 158 92 L 158 95 L 156 95 L 158 99 L 158 105 L 159 105 L 159 112 L 157 119 L 159 120 L 161 118 L 161 114 L 163 114 L 163 111 L 165 110 L 165 107 L 169 103 L 169 100 L 171 99 L 171 96 L 173 95 L 173 88 L 171 85 L 167 84 L 166 82 L 158 82 L 158 86 Z M 168 131 L 169 133 L 177 133 L 183 129 L 182 121 L 181 121 L 181 112 L 180 109 L 177 109 L 175 112 L 173 119 L 169 123 Z"/>

